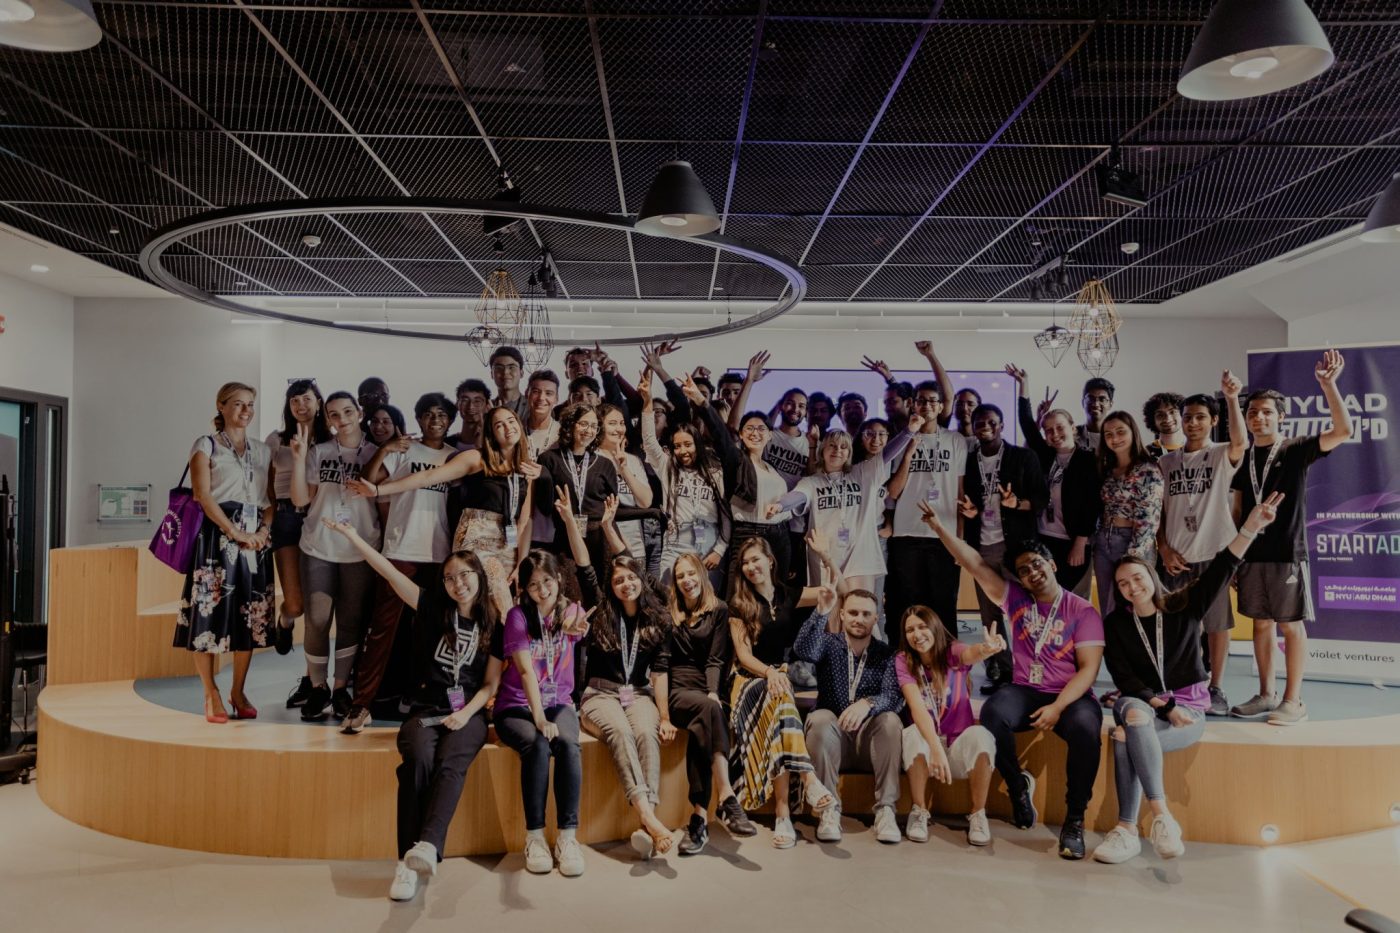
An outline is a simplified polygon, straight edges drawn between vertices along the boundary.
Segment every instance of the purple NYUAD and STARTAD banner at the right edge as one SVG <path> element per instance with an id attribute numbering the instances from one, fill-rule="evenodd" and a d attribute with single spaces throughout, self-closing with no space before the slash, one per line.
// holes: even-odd
<path id="1" fill-rule="evenodd" d="M 1308 562 L 1316 639 L 1400 642 L 1400 436 L 1390 402 L 1400 399 L 1400 346 L 1336 347 L 1347 366 L 1337 388 L 1351 415 L 1351 440 L 1308 472 Z M 1280 434 L 1319 434 L 1331 424 L 1313 366 L 1322 350 L 1249 354 L 1249 388 L 1287 399 Z"/>

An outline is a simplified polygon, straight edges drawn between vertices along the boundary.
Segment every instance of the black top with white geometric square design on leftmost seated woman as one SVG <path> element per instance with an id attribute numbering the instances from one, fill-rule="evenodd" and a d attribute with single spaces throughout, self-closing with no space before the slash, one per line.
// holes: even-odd
<path id="1" fill-rule="evenodd" d="M 482 597 L 484 598 L 484 593 Z M 501 626 L 491 629 L 489 643 L 477 642 L 472 650 L 472 629 L 469 619 L 458 621 L 456 644 L 442 633 L 444 616 L 456 614 L 456 604 L 447 595 L 441 581 L 423 587 L 419 593 L 419 608 L 413 616 L 413 712 L 451 713 L 447 691 L 452 686 L 452 665 L 461 660 L 456 684 L 468 700 L 482 689 L 486 679 L 486 664 L 490 658 L 504 658 Z"/>

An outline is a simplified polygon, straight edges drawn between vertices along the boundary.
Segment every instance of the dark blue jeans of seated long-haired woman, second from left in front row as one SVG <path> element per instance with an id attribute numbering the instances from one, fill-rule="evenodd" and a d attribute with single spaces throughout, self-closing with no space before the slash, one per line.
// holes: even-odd
<path id="1" fill-rule="evenodd" d="M 578 828 L 578 797 L 584 786 L 584 762 L 578 752 L 578 710 L 550 706 L 545 719 L 559 726 L 559 735 L 545 738 L 535 728 L 529 707 L 517 706 L 496 713 L 496 734 L 521 756 L 521 799 L 525 828 L 545 828 L 549 797 L 549 759 L 554 759 L 554 817 L 560 829 Z"/>

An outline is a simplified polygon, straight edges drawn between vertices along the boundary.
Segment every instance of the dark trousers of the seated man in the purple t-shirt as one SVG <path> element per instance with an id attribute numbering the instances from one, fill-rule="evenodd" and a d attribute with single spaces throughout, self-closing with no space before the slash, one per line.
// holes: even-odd
<path id="1" fill-rule="evenodd" d="M 1056 700 L 1033 686 L 1008 684 L 981 705 L 981 724 L 997 740 L 997 770 L 1012 796 L 1022 790 L 1021 761 L 1016 758 L 1016 733 L 1030 728 L 1030 713 Z M 1085 693 L 1060 713 L 1054 734 L 1068 745 L 1065 754 L 1064 803 L 1070 820 L 1084 818 L 1099 776 L 1099 748 L 1103 744 L 1103 712 L 1092 695 Z"/>

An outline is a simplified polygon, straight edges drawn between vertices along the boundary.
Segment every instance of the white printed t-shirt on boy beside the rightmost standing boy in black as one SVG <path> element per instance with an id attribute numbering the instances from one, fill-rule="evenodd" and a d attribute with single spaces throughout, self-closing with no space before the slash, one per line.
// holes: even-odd
<path id="1" fill-rule="evenodd" d="M 1183 560 L 1210 560 L 1233 541 L 1231 481 L 1239 464 L 1229 462 L 1229 444 L 1211 444 L 1187 452 L 1173 450 L 1158 461 L 1166 490 L 1162 496 L 1162 527 L 1166 544 Z"/>

